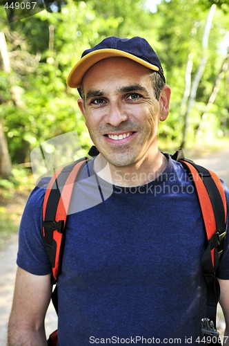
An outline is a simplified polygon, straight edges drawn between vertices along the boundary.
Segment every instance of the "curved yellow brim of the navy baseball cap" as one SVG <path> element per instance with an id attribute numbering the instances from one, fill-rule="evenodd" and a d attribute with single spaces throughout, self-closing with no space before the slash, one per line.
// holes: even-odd
<path id="1" fill-rule="evenodd" d="M 100 60 L 106 59 L 107 57 L 127 57 L 130 60 L 148 67 L 148 69 L 150 70 L 159 71 L 159 68 L 157 66 L 152 65 L 145 60 L 142 60 L 140 57 L 136 57 L 135 55 L 126 53 L 124 51 L 119 51 L 118 49 L 105 48 L 88 53 L 87 55 L 82 57 L 81 60 L 77 62 L 77 64 L 74 65 L 67 78 L 68 86 L 70 86 L 71 88 L 79 88 L 83 80 L 83 76 L 90 69 L 90 67 L 92 67 Z"/>

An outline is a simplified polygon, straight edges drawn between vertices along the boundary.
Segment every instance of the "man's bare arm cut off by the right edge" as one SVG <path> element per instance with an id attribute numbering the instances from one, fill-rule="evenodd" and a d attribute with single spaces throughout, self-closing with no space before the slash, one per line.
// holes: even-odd
<path id="1" fill-rule="evenodd" d="M 229 345 L 229 280 L 218 279 L 220 284 L 219 303 L 223 310 L 223 315 L 226 322 L 223 345 Z"/>

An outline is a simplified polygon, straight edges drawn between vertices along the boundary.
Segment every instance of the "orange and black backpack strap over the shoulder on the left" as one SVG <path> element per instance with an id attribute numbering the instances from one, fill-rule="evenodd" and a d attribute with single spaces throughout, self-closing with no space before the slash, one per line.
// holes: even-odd
<path id="1" fill-rule="evenodd" d="M 55 173 L 48 184 L 43 201 L 43 237 L 52 266 L 52 283 L 61 270 L 64 229 L 77 174 L 88 162 L 82 158 Z"/>

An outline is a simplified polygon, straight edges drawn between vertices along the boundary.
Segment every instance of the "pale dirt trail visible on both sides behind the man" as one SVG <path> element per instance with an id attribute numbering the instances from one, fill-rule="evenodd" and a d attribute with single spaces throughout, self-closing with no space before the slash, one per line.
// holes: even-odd
<path id="1" fill-rule="evenodd" d="M 196 163 L 215 171 L 229 187 L 229 148 L 217 154 L 195 159 Z M 17 235 L 13 235 L 5 248 L 0 251 L 0 346 L 6 346 L 6 330 L 12 304 L 14 278 L 16 272 Z M 219 321 L 223 327 L 223 321 Z M 46 317 L 46 333 L 57 326 L 57 317 L 50 304 Z"/>

